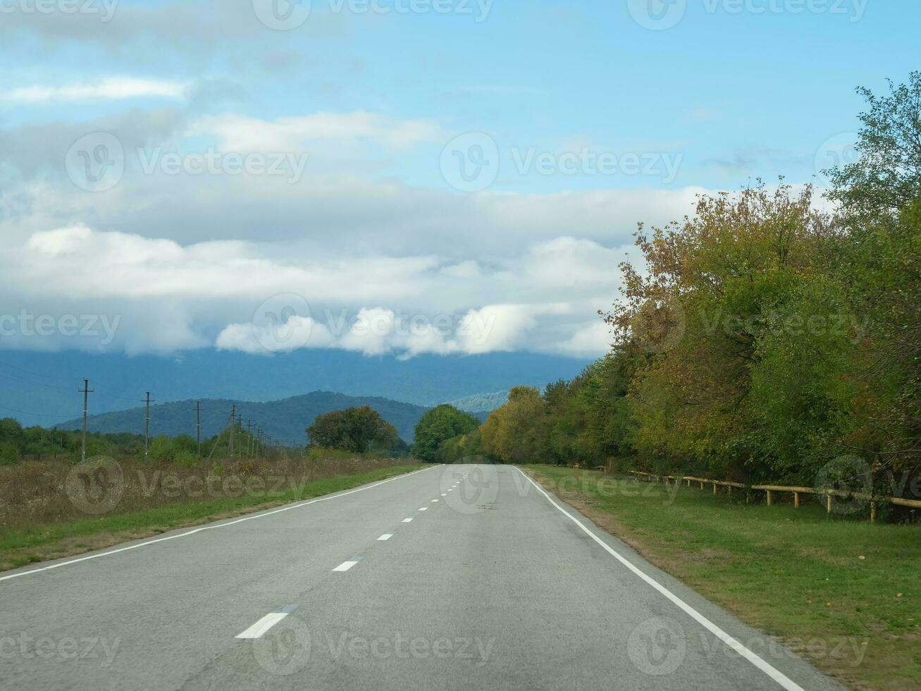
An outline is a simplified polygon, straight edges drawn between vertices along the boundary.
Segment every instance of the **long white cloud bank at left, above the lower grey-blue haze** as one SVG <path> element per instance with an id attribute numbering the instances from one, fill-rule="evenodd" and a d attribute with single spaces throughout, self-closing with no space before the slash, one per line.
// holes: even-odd
<path id="1" fill-rule="evenodd" d="M 395 300 L 424 289 L 426 272 L 437 264 L 436 257 L 425 256 L 291 255 L 284 247 L 239 240 L 182 246 L 85 226 L 34 233 L 22 248 L 0 254 L 0 266 L 18 287 L 83 299 L 266 299 L 296 293 L 321 302 Z"/>

